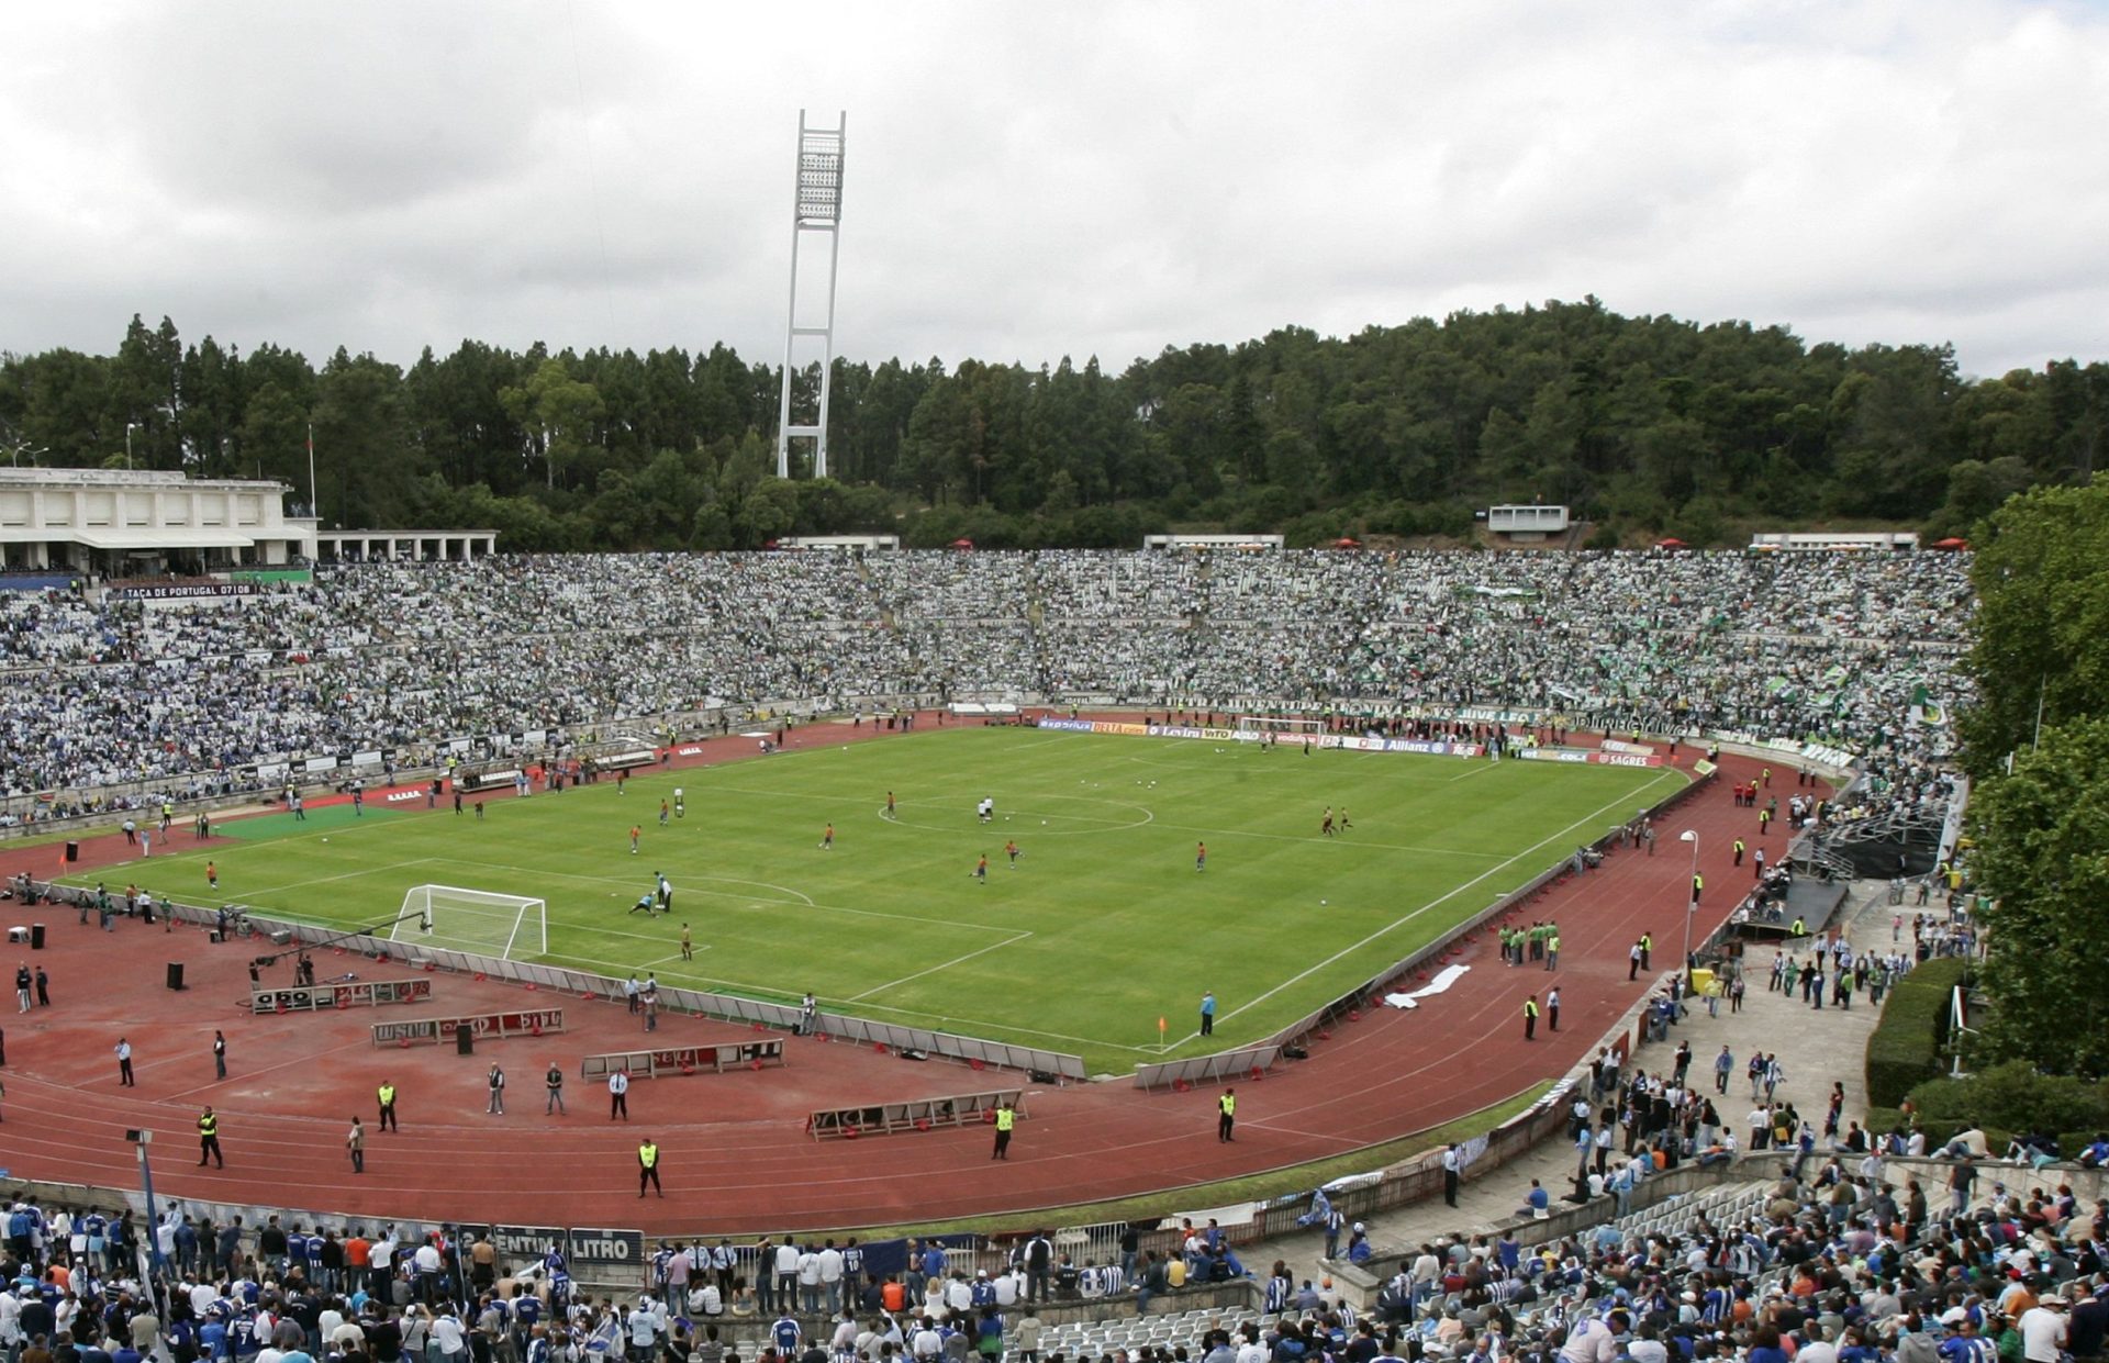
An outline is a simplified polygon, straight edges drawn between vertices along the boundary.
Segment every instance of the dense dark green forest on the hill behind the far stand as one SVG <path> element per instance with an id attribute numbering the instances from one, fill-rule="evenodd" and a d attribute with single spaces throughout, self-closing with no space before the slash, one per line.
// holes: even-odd
<path id="1" fill-rule="evenodd" d="M 812 411 L 818 367 L 797 378 Z M 1620 316 L 1597 300 L 1320 338 L 1194 344 L 1120 373 L 837 361 L 833 479 L 774 477 L 776 367 L 725 346 L 527 352 L 403 369 L 188 344 L 0 354 L 0 452 L 36 464 L 274 477 L 331 525 L 481 525 L 508 549 L 728 549 L 898 530 L 911 544 L 1133 546 L 1459 536 L 1489 502 L 1565 502 L 1597 544 L 1753 523 L 1966 534 L 2010 494 L 2086 483 L 2109 365 L 1968 382 L 1944 346 Z"/>

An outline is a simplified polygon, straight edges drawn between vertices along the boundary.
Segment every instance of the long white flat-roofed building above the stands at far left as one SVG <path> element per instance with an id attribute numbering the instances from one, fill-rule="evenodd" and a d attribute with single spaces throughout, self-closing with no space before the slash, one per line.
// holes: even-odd
<path id="1" fill-rule="evenodd" d="M 285 483 L 152 468 L 0 468 L 0 568 L 97 578 L 272 568 L 314 557 Z"/>

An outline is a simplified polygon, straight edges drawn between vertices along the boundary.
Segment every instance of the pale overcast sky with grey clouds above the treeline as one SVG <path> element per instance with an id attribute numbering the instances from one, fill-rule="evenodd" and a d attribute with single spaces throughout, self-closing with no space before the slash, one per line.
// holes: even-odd
<path id="1" fill-rule="evenodd" d="M 1111 369 L 1599 295 L 2109 354 L 2109 8 L 11 6 L 0 348 L 780 359 L 799 108 L 837 350 Z M 816 238 L 808 238 L 816 241 Z M 804 352 L 801 352 L 804 359 Z"/>

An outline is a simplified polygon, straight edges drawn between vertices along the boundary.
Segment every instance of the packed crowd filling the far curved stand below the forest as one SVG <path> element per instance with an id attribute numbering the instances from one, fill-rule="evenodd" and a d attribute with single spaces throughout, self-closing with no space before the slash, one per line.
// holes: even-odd
<path id="1" fill-rule="evenodd" d="M 211 601 L 0 595 L 0 793 L 219 793 L 413 751 L 772 700 L 1495 707 L 1826 741 L 1930 798 L 1957 555 L 827 553 L 329 568 Z M 251 781 L 251 785 L 262 785 Z"/>

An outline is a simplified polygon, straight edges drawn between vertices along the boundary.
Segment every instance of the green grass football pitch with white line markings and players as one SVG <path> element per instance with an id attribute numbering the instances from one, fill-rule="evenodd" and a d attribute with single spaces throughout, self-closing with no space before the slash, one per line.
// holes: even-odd
<path id="1" fill-rule="evenodd" d="M 1272 753 L 945 728 L 498 800 L 228 821 L 112 867 L 190 903 L 388 922 L 415 884 L 548 901 L 548 962 L 1071 1051 L 1095 1072 L 1253 1040 L 1670 795 L 1670 770 Z M 685 791 L 685 817 L 658 804 Z M 898 819 L 882 819 L 886 791 Z M 974 817 L 995 800 L 995 821 Z M 1320 812 L 1352 827 L 1320 836 Z M 637 855 L 631 823 L 641 825 Z M 833 850 L 820 848 L 835 825 Z M 1012 867 L 1004 844 L 1017 840 Z M 1196 842 L 1208 844 L 1196 874 Z M 207 855 L 219 892 L 205 886 Z M 974 878 L 981 855 L 987 882 Z M 664 871 L 673 916 L 631 914 Z M 679 928 L 696 958 L 679 960 Z M 1215 1036 L 1196 1036 L 1204 990 Z M 1158 1019 L 1166 1032 L 1158 1034 Z"/>

